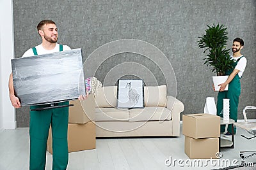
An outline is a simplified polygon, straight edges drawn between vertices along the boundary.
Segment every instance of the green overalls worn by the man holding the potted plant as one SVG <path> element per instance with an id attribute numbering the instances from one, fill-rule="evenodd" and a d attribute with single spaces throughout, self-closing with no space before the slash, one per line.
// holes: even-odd
<path id="1" fill-rule="evenodd" d="M 244 56 L 242 56 L 244 57 Z M 234 62 L 233 66 L 236 67 L 237 62 L 242 58 L 240 57 L 236 62 Z M 228 70 L 225 75 L 230 75 L 232 73 L 233 69 Z M 235 122 L 237 122 L 237 108 L 239 103 L 239 96 L 241 94 L 241 84 L 240 84 L 240 77 L 238 74 L 233 78 L 230 83 L 228 83 L 228 90 L 219 92 L 218 94 L 218 102 L 217 102 L 217 115 L 220 117 L 223 117 L 223 113 L 221 111 L 223 110 L 223 99 L 229 99 L 229 117 Z M 225 125 L 221 125 L 221 132 L 225 131 Z M 228 125 L 228 132 L 232 132 L 231 125 Z M 236 134 L 236 127 L 234 127 L 234 134 Z"/>

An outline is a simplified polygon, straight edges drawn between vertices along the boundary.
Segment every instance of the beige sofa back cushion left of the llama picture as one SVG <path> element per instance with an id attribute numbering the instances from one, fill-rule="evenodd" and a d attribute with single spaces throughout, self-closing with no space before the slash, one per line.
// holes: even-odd
<path id="1" fill-rule="evenodd" d="M 97 96 L 95 96 L 96 108 L 115 108 L 116 107 L 116 86 L 106 86 L 99 90 Z"/>

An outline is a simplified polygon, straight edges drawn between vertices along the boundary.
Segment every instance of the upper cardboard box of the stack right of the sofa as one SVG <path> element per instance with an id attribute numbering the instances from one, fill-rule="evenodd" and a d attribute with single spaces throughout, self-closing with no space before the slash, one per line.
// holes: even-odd
<path id="1" fill-rule="evenodd" d="M 220 117 L 207 113 L 183 115 L 182 133 L 195 139 L 220 137 Z"/>

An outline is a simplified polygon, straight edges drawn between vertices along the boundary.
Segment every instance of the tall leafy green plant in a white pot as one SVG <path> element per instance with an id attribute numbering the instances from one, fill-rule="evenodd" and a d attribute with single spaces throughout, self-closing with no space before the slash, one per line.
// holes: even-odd
<path id="1" fill-rule="evenodd" d="M 234 60 L 230 58 L 229 49 L 226 49 L 228 40 L 228 31 L 225 25 L 207 25 L 205 34 L 198 37 L 197 41 L 199 48 L 205 48 L 204 53 L 207 52 L 207 57 L 204 58 L 207 66 L 210 66 L 211 71 L 216 73 L 217 76 L 213 76 L 214 88 L 216 91 L 220 89 L 218 86 L 227 80 L 228 76 L 225 72 L 228 69 L 233 69 L 232 63 Z M 216 80 L 217 79 L 217 80 Z M 221 80 L 219 80 L 221 79 Z M 216 81 L 215 81 L 216 80 Z M 225 90 L 228 89 L 228 86 Z"/>

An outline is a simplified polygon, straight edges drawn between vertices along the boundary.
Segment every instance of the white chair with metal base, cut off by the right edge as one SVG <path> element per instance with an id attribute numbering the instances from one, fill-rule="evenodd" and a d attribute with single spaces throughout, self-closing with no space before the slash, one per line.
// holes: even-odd
<path id="1" fill-rule="evenodd" d="M 241 135 L 243 138 L 246 139 L 252 139 L 252 138 L 256 138 L 256 122 L 249 122 L 246 116 L 246 110 L 255 110 L 256 107 L 255 106 L 246 106 L 243 110 L 243 115 L 244 115 L 244 122 L 237 122 L 235 123 L 235 125 L 237 127 L 240 127 L 241 129 L 246 130 L 247 132 L 249 132 L 250 134 L 252 134 L 253 136 L 248 138 L 244 135 Z M 245 156 L 245 154 L 249 154 L 247 156 Z M 256 151 L 241 151 L 240 152 L 240 158 L 242 159 L 242 162 L 245 162 L 245 159 L 248 159 L 250 157 L 253 157 L 256 155 Z"/>

